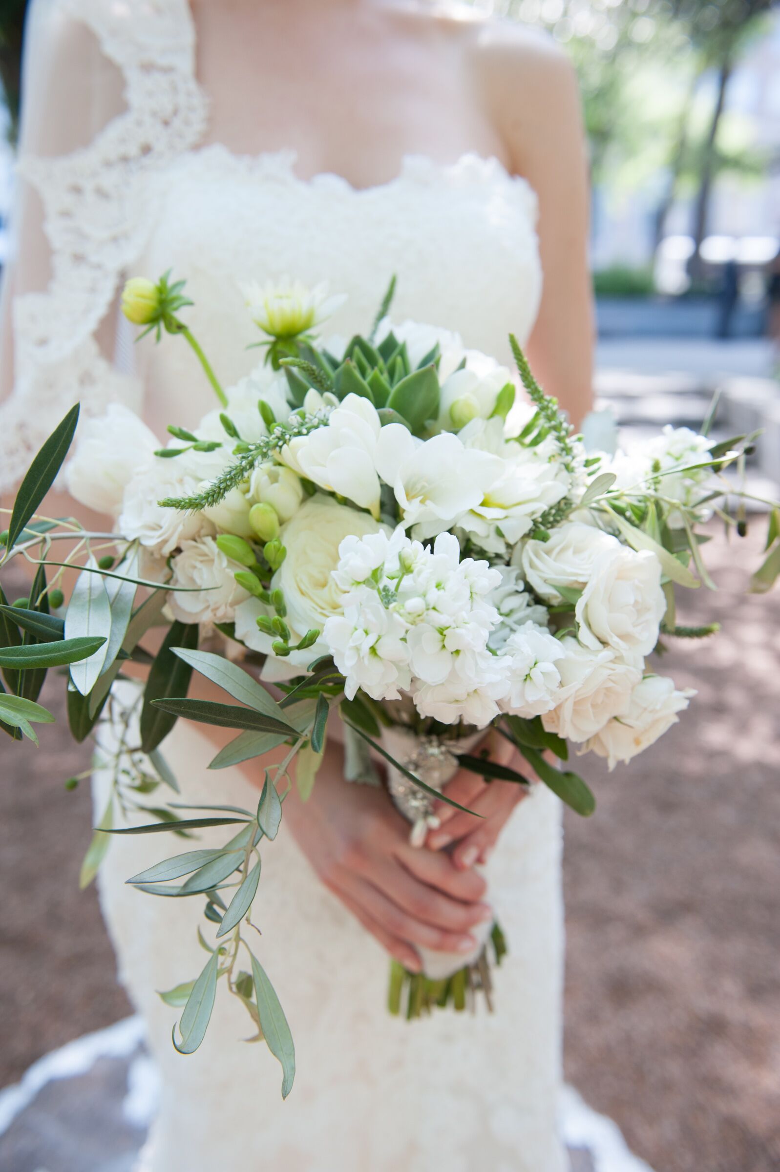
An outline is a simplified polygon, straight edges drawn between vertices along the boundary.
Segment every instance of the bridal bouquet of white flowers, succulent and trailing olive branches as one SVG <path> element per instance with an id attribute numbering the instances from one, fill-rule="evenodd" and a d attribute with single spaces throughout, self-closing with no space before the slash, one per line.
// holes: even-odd
<path id="1" fill-rule="evenodd" d="M 118 406 L 82 425 L 67 484 L 110 515 L 104 532 L 39 512 L 74 408 L 30 466 L 4 534 L 4 564 L 23 557 L 36 574 L 29 598 L 8 605 L 0 592 L 2 728 L 36 742 L 33 725 L 53 720 L 38 702 L 49 667 L 65 668 L 77 741 L 103 716 L 99 761 L 113 793 L 84 884 L 111 833 L 229 827 L 221 847 L 174 854 L 129 883 L 201 898 L 216 925 L 211 943 L 201 934 L 203 972 L 163 994 L 183 1007 L 176 1048 L 199 1045 L 222 981 L 280 1061 L 284 1095 L 292 1040 L 244 929 L 262 922 L 260 847 L 279 830 L 293 761 L 305 800 L 338 710 L 346 778 L 386 785 L 422 846 L 434 800 L 456 805 L 446 784 L 457 769 L 529 786 L 481 748 L 493 728 L 538 782 L 590 815 L 570 748 L 613 768 L 678 720 L 692 693 L 647 656 L 667 636 L 715 629 L 679 627 L 674 588 L 712 585 L 701 520 L 714 511 L 742 526 L 727 512 L 738 490 L 723 470 L 744 461 L 752 437 L 715 444 L 706 425 L 666 428 L 628 452 L 589 452 L 514 339 L 523 400 L 508 369 L 457 335 L 392 325 L 392 292 L 365 336 L 324 342 L 325 289 L 246 286 L 265 356 L 224 390 L 179 316 L 183 282 L 128 282 L 127 316 L 157 339 L 182 335 L 219 403 L 171 423 L 165 447 Z M 68 567 L 79 577 L 66 605 Z M 758 588 L 779 571 L 775 510 Z M 150 652 L 142 640 L 154 627 L 163 638 Z M 143 688 L 122 683 L 133 665 L 149 669 Z M 188 699 L 192 670 L 238 703 Z M 179 717 L 236 730 L 212 769 L 276 751 L 257 810 L 158 797 L 178 789 L 160 745 Z M 472 958 L 425 955 L 422 974 L 394 965 L 391 1009 L 403 1001 L 412 1017 L 489 997 L 489 947 L 500 961 L 498 925 Z"/>

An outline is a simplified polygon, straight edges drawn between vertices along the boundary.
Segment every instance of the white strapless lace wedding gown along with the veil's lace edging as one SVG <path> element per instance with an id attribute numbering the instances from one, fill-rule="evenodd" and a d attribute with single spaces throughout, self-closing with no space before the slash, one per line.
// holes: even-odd
<path id="1" fill-rule="evenodd" d="M 287 152 L 201 148 L 208 111 L 184 0 L 36 0 L 35 8 L 34 21 L 61 9 L 94 32 L 124 75 L 126 109 L 68 157 L 22 159 L 42 198 L 53 266 L 47 292 L 15 304 L 15 388 L 0 428 L 7 482 L 75 398 L 93 413 L 120 398 L 160 434 L 211 406 L 175 339 L 157 347 L 147 339 L 134 352 L 120 331 L 117 361 L 100 355 L 93 334 L 123 274 L 156 279 L 172 268 L 186 278 L 194 332 L 225 384 L 258 356 L 244 348 L 253 335 L 242 278 L 327 279 L 348 294 L 331 323 L 345 335 L 365 331 L 392 273 L 398 320 L 445 325 L 503 361 L 509 332 L 528 335 L 541 289 L 535 197 L 497 161 L 409 157 L 392 182 L 355 190 L 333 175 L 298 178 Z M 213 750 L 195 725 L 179 721 L 162 748 L 182 800 L 257 800 L 237 770 L 208 771 Z M 99 772 L 97 817 L 107 784 Z M 223 837 L 206 831 L 202 844 Z M 162 841 L 113 840 L 99 879 L 120 979 L 161 1074 L 144 1172 L 561 1172 L 561 816 L 549 790 L 520 804 L 488 867 L 509 943 L 493 1016 L 391 1017 L 385 953 L 318 881 L 283 824 L 263 854 L 256 920 L 297 1048 L 284 1103 L 273 1057 L 242 1041 L 250 1022 L 235 999 L 218 995 L 195 1055 L 171 1045 L 176 1011 L 156 990 L 203 967 L 202 904 L 124 884 L 179 849 Z"/>

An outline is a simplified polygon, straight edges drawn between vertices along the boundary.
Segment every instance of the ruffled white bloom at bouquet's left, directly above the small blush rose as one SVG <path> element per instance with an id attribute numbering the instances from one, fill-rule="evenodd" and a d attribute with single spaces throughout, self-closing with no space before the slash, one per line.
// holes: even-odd
<path id="1" fill-rule="evenodd" d="M 133 477 L 124 493 L 117 530 L 123 537 L 141 543 L 158 557 L 168 557 L 183 541 L 215 532 L 202 512 L 168 509 L 157 502 L 165 497 L 189 497 L 198 491 L 198 482 L 188 471 L 182 457 L 158 457 Z"/>

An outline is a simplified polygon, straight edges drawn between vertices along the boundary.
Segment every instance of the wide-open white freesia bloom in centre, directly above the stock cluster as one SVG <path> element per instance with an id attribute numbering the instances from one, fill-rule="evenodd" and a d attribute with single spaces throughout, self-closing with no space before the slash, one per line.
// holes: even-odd
<path id="1" fill-rule="evenodd" d="M 502 470 L 500 457 L 464 448 L 452 432 L 421 442 L 401 423 L 381 429 L 375 462 L 403 511 L 403 524 L 419 525 L 422 537 L 441 533 L 479 505 Z"/>

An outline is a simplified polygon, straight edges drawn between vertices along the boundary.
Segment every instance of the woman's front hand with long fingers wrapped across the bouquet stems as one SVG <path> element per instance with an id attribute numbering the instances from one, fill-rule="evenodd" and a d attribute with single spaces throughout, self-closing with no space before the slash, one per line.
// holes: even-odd
<path id="1" fill-rule="evenodd" d="M 420 969 L 414 945 L 467 953 L 469 929 L 493 919 L 481 902 L 484 880 L 409 846 L 409 825 L 385 790 L 344 781 L 338 745 L 328 747 L 308 802 L 293 788 L 284 810 L 325 886 L 408 969 Z"/>

